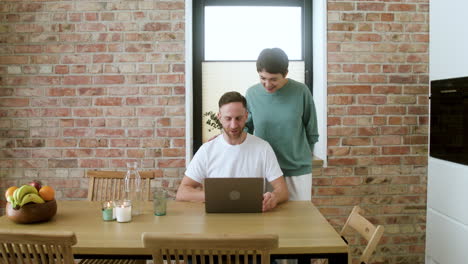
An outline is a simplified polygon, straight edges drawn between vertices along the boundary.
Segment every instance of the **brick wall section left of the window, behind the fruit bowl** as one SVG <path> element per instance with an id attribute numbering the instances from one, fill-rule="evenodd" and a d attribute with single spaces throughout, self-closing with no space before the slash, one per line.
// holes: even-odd
<path id="1" fill-rule="evenodd" d="M 0 189 L 39 178 L 59 199 L 84 198 L 86 170 L 137 160 L 156 172 L 153 186 L 175 190 L 185 167 L 184 9 L 3 1 Z"/>

